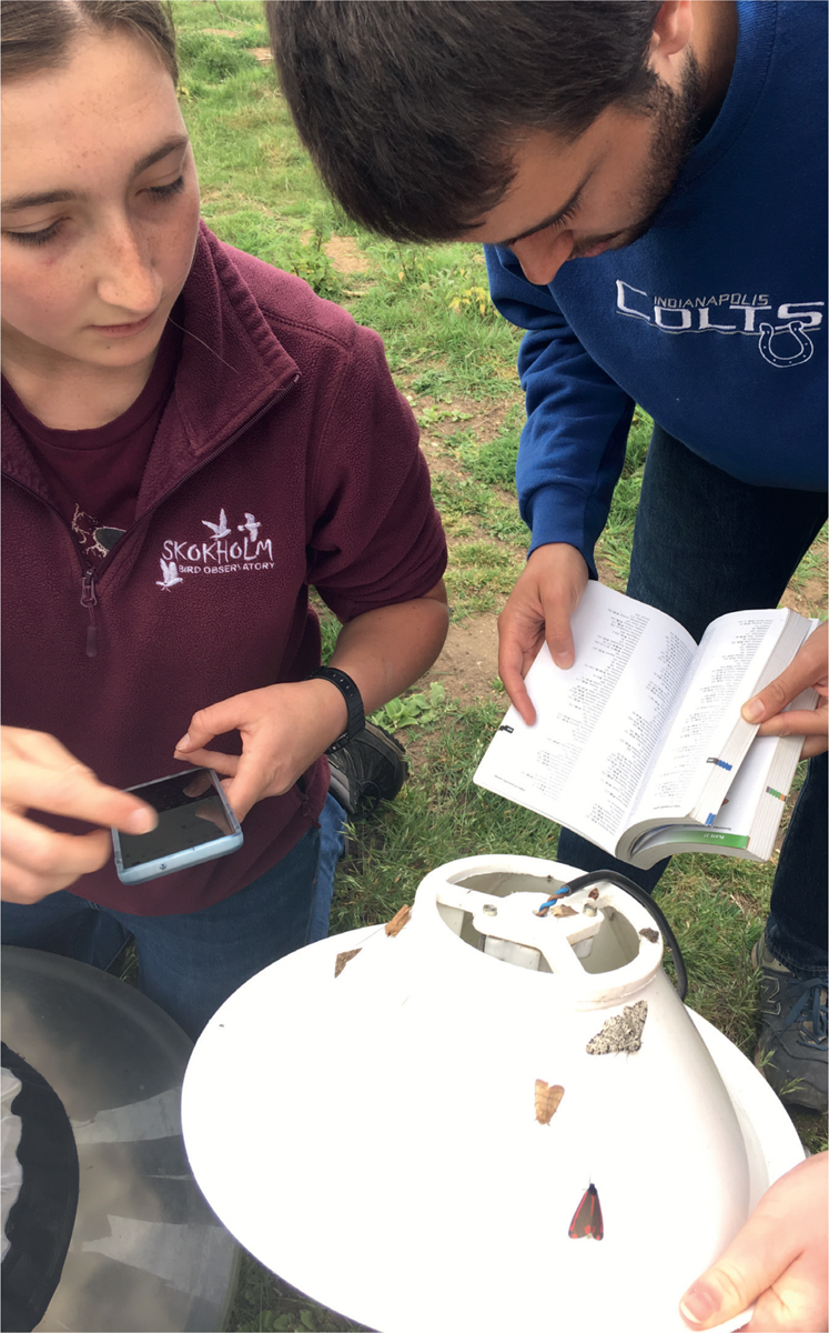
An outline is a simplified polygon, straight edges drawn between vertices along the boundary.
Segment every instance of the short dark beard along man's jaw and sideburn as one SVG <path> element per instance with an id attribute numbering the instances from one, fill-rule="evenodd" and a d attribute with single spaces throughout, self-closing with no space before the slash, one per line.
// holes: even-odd
<path id="1" fill-rule="evenodd" d="M 650 93 L 649 119 L 653 124 L 650 157 L 645 177 L 636 199 L 640 221 L 625 227 L 612 239 L 608 249 L 622 249 L 650 231 L 676 185 L 685 159 L 697 143 L 701 109 L 700 65 L 693 51 L 688 52 L 682 85 L 674 92 L 661 79 Z M 589 249 L 608 237 L 596 236 L 584 241 L 570 259 L 578 259 L 578 249 Z"/>

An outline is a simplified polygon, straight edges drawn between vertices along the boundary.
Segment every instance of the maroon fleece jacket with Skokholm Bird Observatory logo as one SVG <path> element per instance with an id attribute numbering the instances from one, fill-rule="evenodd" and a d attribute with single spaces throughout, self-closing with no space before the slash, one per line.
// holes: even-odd
<path id="1" fill-rule="evenodd" d="M 196 709 L 319 666 L 309 585 L 351 620 L 422 596 L 446 560 L 376 333 L 204 225 L 183 297 L 136 521 L 95 572 L 3 412 L 3 721 L 49 732 L 113 786 L 185 768 L 173 746 Z M 213 748 L 239 753 L 239 734 Z M 111 860 L 72 892 L 140 916 L 208 906 L 289 852 L 327 789 L 321 757 L 253 806 L 233 856 L 132 886 Z"/>

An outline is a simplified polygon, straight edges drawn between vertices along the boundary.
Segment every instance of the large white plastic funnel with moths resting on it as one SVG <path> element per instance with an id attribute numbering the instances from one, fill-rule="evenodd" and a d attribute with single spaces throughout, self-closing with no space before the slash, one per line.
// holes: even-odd
<path id="1" fill-rule="evenodd" d="M 381 1333 L 685 1329 L 680 1296 L 802 1148 L 680 1002 L 645 908 L 602 886 L 534 914 L 580 873 L 454 861 L 399 934 L 312 945 L 219 1010 L 185 1142 L 261 1262 Z M 564 1089 L 548 1124 L 537 1080 Z M 601 1240 L 570 1236 L 590 1185 Z"/>

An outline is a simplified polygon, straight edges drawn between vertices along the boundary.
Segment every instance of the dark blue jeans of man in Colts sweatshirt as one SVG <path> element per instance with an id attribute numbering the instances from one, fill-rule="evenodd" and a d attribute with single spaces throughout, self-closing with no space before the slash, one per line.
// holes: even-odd
<path id="1" fill-rule="evenodd" d="M 781 445 L 784 447 L 784 445 Z M 752 487 L 654 427 L 636 516 L 628 593 L 698 641 L 717 616 L 776 607 L 826 521 L 826 496 Z M 558 858 L 614 869 L 648 892 L 668 861 L 638 870 L 569 829 Z M 774 876 L 766 940 L 794 973 L 826 972 L 826 754 L 809 761 Z"/>

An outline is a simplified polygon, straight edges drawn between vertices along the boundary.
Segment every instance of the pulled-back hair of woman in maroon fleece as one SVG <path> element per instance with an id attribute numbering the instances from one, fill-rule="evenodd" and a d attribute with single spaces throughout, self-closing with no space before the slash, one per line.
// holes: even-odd
<path id="1" fill-rule="evenodd" d="M 0 73 L 15 79 L 59 69 L 77 37 L 119 31 L 140 37 L 179 83 L 176 33 L 169 7 L 159 0 L 1 0 Z"/>

